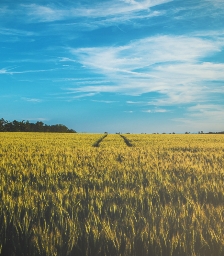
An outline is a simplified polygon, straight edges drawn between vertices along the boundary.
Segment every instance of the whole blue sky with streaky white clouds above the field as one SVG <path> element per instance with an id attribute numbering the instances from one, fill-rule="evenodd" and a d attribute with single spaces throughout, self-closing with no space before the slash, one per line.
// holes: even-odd
<path id="1" fill-rule="evenodd" d="M 0 118 L 224 131 L 224 0 L 1 0 Z"/>

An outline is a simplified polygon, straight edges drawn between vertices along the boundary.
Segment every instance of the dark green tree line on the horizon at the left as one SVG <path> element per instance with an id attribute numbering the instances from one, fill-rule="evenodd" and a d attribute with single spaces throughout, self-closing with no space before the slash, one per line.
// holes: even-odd
<path id="1" fill-rule="evenodd" d="M 0 132 L 22 132 L 22 133 L 76 133 L 63 124 L 47 125 L 43 122 L 30 123 L 29 120 L 9 122 L 0 119 Z"/>

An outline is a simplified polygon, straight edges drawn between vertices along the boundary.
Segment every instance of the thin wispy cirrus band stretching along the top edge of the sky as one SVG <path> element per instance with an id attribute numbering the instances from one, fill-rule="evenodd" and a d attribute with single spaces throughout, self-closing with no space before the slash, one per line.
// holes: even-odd
<path id="1" fill-rule="evenodd" d="M 4 15 L 12 15 L 14 17 L 21 17 L 25 22 L 53 22 L 58 20 L 75 20 L 74 23 L 68 23 L 69 25 L 79 24 L 79 27 L 84 24 L 85 27 L 98 27 L 98 26 L 111 26 L 111 24 L 119 24 L 132 19 L 144 19 L 149 18 L 150 16 L 156 16 L 166 13 L 166 10 L 151 11 L 150 8 L 154 6 L 159 6 L 165 3 L 172 2 L 173 0 L 139 0 L 139 1 L 103 1 L 103 2 L 94 2 L 83 4 L 81 1 L 72 3 L 67 2 L 63 3 L 60 1 L 47 4 L 32 3 L 27 4 L 15 3 L 11 6 L 3 6 L 0 8 L 0 12 Z M 186 1 L 187 2 L 187 1 Z M 223 10 L 223 1 L 198 1 L 194 6 L 185 4 L 184 7 L 169 7 L 169 14 L 178 13 L 181 10 L 190 10 L 191 12 L 194 9 L 210 9 L 220 13 Z M 207 15 L 201 11 L 201 15 Z M 191 14 L 190 12 L 190 14 Z M 183 19 L 186 15 L 180 14 L 176 18 Z M 197 14 L 199 12 L 197 11 Z M 87 22 L 80 22 L 78 18 L 90 19 Z M 106 18 L 106 19 L 105 19 Z M 92 19 L 92 20 L 91 20 Z M 99 19 L 99 20 L 97 20 Z"/>

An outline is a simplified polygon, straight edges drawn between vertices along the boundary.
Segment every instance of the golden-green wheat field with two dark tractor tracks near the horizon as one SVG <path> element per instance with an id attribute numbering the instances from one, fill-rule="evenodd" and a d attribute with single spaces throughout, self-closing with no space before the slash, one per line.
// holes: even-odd
<path id="1" fill-rule="evenodd" d="M 0 254 L 224 255 L 224 135 L 122 135 L 0 133 Z"/>

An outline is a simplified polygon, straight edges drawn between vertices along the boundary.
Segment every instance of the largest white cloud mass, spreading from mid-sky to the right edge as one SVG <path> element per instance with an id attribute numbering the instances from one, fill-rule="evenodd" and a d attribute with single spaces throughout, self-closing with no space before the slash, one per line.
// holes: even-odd
<path id="1" fill-rule="evenodd" d="M 220 52 L 223 46 L 221 38 L 157 35 L 118 47 L 68 49 L 75 56 L 74 61 L 116 84 L 79 86 L 77 91 L 127 95 L 159 92 L 162 97 L 148 104 L 162 106 L 203 102 L 211 91 L 220 90 L 218 84 L 205 87 L 203 83 L 224 81 L 224 64 L 200 59 Z"/>

